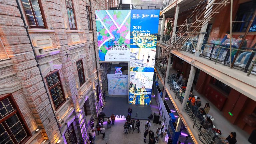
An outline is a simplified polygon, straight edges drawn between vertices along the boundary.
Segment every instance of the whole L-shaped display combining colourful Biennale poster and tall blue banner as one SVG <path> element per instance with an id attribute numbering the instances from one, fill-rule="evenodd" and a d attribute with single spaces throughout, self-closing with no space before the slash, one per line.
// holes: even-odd
<path id="1" fill-rule="evenodd" d="M 100 61 L 130 62 L 130 104 L 151 102 L 159 12 L 96 11 Z"/>

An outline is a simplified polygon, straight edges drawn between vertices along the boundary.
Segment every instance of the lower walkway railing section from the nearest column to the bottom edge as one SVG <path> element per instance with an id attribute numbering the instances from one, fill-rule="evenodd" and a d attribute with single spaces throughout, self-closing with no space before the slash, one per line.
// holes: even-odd
<path id="1" fill-rule="evenodd" d="M 195 106 L 186 105 L 186 112 L 193 121 L 193 128 L 199 130 L 200 134 L 207 144 L 222 144 L 221 138 L 218 136 L 211 124 L 203 117 L 203 115 L 195 108 Z"/>

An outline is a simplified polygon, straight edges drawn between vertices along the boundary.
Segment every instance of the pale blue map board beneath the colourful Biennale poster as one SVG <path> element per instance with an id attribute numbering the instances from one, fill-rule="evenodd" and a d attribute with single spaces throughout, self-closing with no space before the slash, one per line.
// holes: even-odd
<path id="1" fill-rule="evenodd" d="M 127 95 L 128 75 L 108 74 L 108 94 Z"/>

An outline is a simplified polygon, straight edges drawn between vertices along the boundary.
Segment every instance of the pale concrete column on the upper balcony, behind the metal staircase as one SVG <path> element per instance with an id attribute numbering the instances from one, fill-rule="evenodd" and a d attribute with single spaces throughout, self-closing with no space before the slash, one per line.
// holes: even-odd
<path id="1" fill-rule="evenodd" d="M 204 20 L 210 20 L 210 19 L 205 19 L 208 15 L 210 15 L 208 12 L 212 12 L 212 6 L 213 6 L 213 1 L 208 0 L 208 5 L 206 6 L 206 11 L 207 13 L 204 14 Z M 210 7 L 210 8 L 209 8 Z M 197 42 L 197 46 L 196 46 L 196 52 L 195 52 L 195 56 L 199 57 L 200 53 L 201 53 L 201 48 L 202 48 L 202 44 L 204 41 L 204 36 L 205 36 L 205 32 L 207 29 L 207 25 L 208 25 L 208 21 L 205 22 L 205 25 L 201 28 L 200 30 L 200 34 L 198 37 L 198 42 Z"/>

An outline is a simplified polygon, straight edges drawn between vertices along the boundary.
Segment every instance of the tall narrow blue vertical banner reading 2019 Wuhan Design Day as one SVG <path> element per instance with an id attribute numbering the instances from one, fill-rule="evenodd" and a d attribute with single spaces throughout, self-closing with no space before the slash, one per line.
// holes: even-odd
<path id="1" fill-rule="evenodd" d="M 159 12 L 131 10 L 130 104 L 151 102 Z"/>

